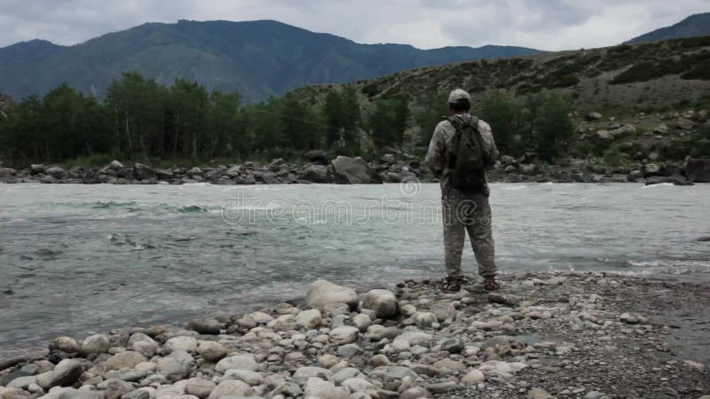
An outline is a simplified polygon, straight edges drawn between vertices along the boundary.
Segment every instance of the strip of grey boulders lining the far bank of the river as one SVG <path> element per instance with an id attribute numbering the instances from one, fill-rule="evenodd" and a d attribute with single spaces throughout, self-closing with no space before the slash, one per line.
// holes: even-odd
<path id="1" fill-rule="evenodd" d="M 31 165 L 16 170 L 0 168 L 0 182 L 43 184 L 381 184 L 431 183 L 436 179 L 419 160 L 398 161 L 386 154 L 379 163 L 345 156 L 328 160 L 327 153 L 306 154 L 305 164 L 272 160 L 268 164 L 212 165 L 202 168 L 154 169 L 136 163 L 124 166 L 114 160 L 104 168 L 61 168 Z M 540 163 L 535 153 L 515 159 L 502 156 L 489 172 L 489 180 L 501 183 L 671 183 L 692 185 L 710 182 L 710 160 L 687 160 L 684 165 L 639 163 L 635 168 L 608 168 L 589 160 L 570 160 L 565 166 Z"/>

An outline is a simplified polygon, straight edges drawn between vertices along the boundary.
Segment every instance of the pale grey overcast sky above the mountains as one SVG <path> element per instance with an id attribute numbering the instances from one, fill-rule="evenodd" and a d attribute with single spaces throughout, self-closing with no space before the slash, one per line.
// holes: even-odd
<path id="1" fill-rule="evenodd" d="M 280 20 L 358 43 L 556 51 L 618 44 L 708 11 L 708 0 L 0 0 L 0 47 L 81 43 L 144 22 Z"/>

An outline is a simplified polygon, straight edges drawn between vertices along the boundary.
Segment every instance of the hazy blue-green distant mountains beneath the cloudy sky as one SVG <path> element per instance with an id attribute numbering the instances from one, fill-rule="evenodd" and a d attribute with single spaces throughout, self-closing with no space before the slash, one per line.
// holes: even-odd
<path id="1" fill-rule="evenodd" d="M 636 37 L 644 43 L 710 35 L 710 13 Z M 360 44 L 274 20 L 147 23 L 74 46 L 33 40 L 0 49 L 0 92 L 20 99 L 60 82 L 102 96 L 113 79 L 138 71 L 157 82 L 177 78 L 209 90 L 241 92 L 247 102 L 315 83 L 353 82 L 421 66 L 538 54 L 525 47 Z"/>

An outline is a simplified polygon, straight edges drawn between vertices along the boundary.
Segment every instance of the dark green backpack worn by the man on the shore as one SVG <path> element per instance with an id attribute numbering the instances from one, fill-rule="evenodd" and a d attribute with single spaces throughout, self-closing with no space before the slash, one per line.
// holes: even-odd
<path id="1" fill-rule="evenodd" d="M 451 182 L 460 192 L 485 192 L 485 150 L 478 131 L 478 118 L 469 122 L 448 118 L 456 133 L 451 139 L 448 153 Z"/>

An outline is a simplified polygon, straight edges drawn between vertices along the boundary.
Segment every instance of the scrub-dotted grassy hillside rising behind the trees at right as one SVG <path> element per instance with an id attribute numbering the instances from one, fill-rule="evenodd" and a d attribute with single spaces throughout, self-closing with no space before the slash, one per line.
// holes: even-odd
<path id="1" fill-rule="evenodd" d="M 697 72 L 694 79 L 690 72 Z M 632 142 L 633 152 L 659 152 L 663 158 L 669 153 L 665 146 L 690 140 L 689 132 L 675 129 L 675 113 L 710 108 L 710 37 L 425 67 L 348 85 L 359 91 L 366 109 L 377 98 L 403 96 L 417 107 L 428 94 L 457 87 L 469 90 L 474 107 L 494 90 L 514 97 L 561 92 L 572 99 L 580 131 L 629 123 L 637 133 L 616 141 Z M 295 92 L 304 101 L 318 104 L 332 87 L 317 85 Z M 583 116 L 591 112 L 603 113 L 604 119 L 584 121 Z M 661 122 L 669 127 L 662 138 L 652 133 Z M 596 148 L 596 155 L 611 144 Z"/>

